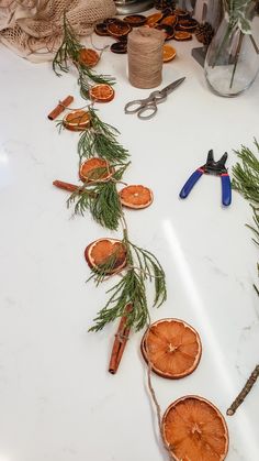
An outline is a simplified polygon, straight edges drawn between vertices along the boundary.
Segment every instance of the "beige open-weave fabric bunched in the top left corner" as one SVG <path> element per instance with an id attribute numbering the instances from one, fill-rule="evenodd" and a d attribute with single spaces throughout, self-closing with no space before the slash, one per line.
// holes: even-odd
<path id="1" fill-rule="evenodd" d="M 115 14 L 113 0 L 0 0 L 0 42 L 33 62 L 49 61 L 61 43 L 63 14 L 78 35 Z"/>

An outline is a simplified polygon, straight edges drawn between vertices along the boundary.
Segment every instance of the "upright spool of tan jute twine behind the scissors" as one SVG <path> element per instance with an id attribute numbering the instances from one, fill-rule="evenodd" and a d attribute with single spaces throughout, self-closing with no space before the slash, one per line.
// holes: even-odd
<path id="1" fill-rule="evenodd" d="M 155 88 L 161 83 L 162 31 L 137 28 L 128 34 L 128 79 L 136 88 Z"/>

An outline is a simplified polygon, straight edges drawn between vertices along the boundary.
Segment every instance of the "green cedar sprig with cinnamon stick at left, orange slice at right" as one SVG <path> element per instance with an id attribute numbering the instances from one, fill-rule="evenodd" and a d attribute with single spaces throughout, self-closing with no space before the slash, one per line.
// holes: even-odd
<path id="1" fill-rule="evenodd" d="M 76 215 L 83 216 L 86 211 L 90 211 L 92 218 L 99 224 L 106 229 L 117 230 L 122 218 L 122 205 L 116 190 L 116 183 L 121 180 L 128 164 L 115 169 L 105 182 L 97 182 L 94 185 L 86 182 L 82 187 L 70 195 L 67 200 L 68 207 L 74 205 Z M 116 165 L 112 165 L 112 168 L 114 167 Z M 106 172 L 106 168 L 95 168 L 94 175 L 97 169 L 100 171 L 100 176 L 104 171 Z M 97 177 L 93 179 L 97 179 Z"/>

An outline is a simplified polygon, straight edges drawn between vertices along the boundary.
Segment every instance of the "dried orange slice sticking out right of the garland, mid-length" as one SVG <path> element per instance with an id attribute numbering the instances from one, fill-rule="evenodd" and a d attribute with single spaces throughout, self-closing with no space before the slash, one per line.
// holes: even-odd
<path id="1" fill-rule="evenodd" d="M 119 195 L 122 205 L 127 208 L 146 208 L 153 202 L 153 191 L 144 186 L 126 186 Z"/>

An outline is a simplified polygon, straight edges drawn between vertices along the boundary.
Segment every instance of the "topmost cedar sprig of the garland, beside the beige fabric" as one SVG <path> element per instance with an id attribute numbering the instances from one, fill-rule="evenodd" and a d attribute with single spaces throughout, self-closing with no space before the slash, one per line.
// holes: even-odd
<path id="1" fill-rule="evenodd" d="M 83 46 L 69 23 L 66 12 L 64 12 L 63 17 L 63 43 L 53 59 L 53 70 L 58 77 L 61 76 L 60 72 L 69 72 L 69 65 L 72 63 L 78 70 L 80 94 L 85 99 L 89 99 L 89 88 L 92 86 L 92 81 L 95 84 L 115 84 L 113 77 L 102 74 L 99 75 L 95 70 L 92 70 L 89 66 L 80 62 L 79 53 Z"/>

